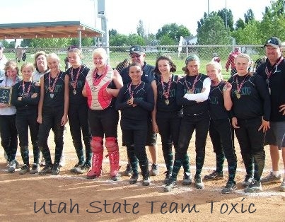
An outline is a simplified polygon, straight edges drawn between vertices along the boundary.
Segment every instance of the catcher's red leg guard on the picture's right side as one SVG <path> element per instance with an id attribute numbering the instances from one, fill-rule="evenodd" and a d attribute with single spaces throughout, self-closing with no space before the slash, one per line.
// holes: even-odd
<path id="1" fill-rule="evenodd" d="M 117 178 L 120 175 L 120 153 L 119 146 L 117 144 L 117 139 L 115 137 L 107 137 L 105 141 L 105 146 L 107 148 L 110 160 L 110 177 Z"/>

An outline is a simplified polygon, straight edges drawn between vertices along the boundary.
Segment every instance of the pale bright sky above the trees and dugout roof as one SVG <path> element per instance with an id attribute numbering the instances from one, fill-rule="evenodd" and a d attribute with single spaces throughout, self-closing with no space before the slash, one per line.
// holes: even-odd
<path id="1" fill-rule="evenodd" d="M 97 0 L 95 0 L 97 1 Z M 97 5 L 97 4 L 95 4 Z M 262 19 L 265 6 L 271 0 L 209 0 L 209 11 L 227 7 L 233 12 L 234 22 L 252 9 L 257 20 Z M 81 21 L 100 29 L 100 19 L 95 18 L 93 0 L 4 0 L 1 1 L 1 23 L 30 23 L 48 21 Z M 128 35 L 136 33 L 139 20 L 148 33 L 167 23 L 185 25 L 195 35 L 197 21 L 208 11 L 208 0 L 105 0 L 107 28 Z M 97 13 L 96 13 L 97 14 Z"/>

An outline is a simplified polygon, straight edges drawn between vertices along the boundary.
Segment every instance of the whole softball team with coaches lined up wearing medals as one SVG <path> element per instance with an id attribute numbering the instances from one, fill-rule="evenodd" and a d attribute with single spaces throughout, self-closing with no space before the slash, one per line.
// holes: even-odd
<path id="1" fill-rule="evenodd" d="M 65 72 L 59 69 L 57 54 L 37 52 L 35 64 L 21 66 L 22 79 L 18 77 L 16 62 L 8 61 L 0 83 L 2 88 L 13 88 L 11 105 L 0 103 L 1 145 L 8 157 L 8 173 L 16 169 L 19 138 L 23 158 L 20 174 L 58 175 L 64 125 L 69 119 L 78 157 L 71 173 L 86 173 L 88 179 L 100 177 L 105 146 L 110 178 L 118 180 L 120 110 L 122 142 L 129 160 L 124 173 L 130 175 L 130 184 L 141 176 L 142 185 L 148 186 L 150 175 L 158 175 L 157 133 L 161 135 L 165 161 L 165 192 L 178 186 L 181 166 L 182 185 L 193 182 L 194 187 L 202 189 L 203 180 L 223 179 L 225 159 L 228 180 L 221 192 L 227 194 L 237 189 L 234 132 L 245 165 L 242 182 L 245 192 L 258 192 L 262 184 L 281 182 L 280 157 L 276 156 L 281 149 L 285 159 L 285 62 L 279 39 L 271 37 L 264 47 L 267 60 L 256 73 L 249 70 L 248 54 L 240 53 L 235 57 L 237 73 L 228 81 L 223 80 L 219 62 L 209 62 L 207 75 L 201 74 L 200 60 L 195 54 L 185 59 L 185 76 L 175 75 L 176 66 L 167 56 L 158 57 L 156 65 L 150 66 L 144 62 L 146 54 L 140 46 L 130 48 L 132 64 L 120 73 L 107 64 L 103 48 L 94 50 L 95 68 L 88 69 L 81 62 L 81 49 L 69 47 L 69 68 Z M 47 144 L 51 129 L 54 160 Z M 33 144 L 33 163 L 29 160 L 28 132 Z M 194 132 L 196 172 L 192 176 L 187 149 Z M 216 170 L 202 178 L 208 132 L 216 154 Z M 270 145 L 272 172 L 261 178 L 264 144 Z M 145 146 L 151 151 L 151 170 Z M 40 153 L 45 158 L 42 169 Z M 285 191 L 285 180 L 280 189 Z"/>

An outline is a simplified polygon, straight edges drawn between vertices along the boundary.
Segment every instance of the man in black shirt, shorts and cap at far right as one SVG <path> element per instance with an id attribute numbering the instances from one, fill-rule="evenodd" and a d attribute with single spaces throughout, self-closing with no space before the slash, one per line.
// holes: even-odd
<path id="1" fill-rule="evenodd" d="M 272 172 L 261 180 L 261 183 L 266 185 L 281 182 L 280 149 L 285 166 L 285 60 L 278 37 L 270 37 L 264 48 L 267 59 L 258 67 L 256 73 L 267 81 L 271 97 L 270 129 L 266 133 L 265 144 L 270 147 Z M 285 178 L 281 182 L 280 190 L 285 192 Z"/>

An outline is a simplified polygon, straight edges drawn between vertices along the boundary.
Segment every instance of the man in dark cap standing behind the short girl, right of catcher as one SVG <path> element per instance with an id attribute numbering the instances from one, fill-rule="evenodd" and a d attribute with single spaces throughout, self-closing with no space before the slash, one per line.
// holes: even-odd
<path id="1" fill-rule="evenodd" d="M 151 84 L 151 88 L 153 89 L 153 94 L 155 98 L 155 104 L 156 104 L 156 95 L 157 95 L 157 88 L 156 88 L 156 78 L 154 76 L 153 70 L 154 66 L 151 66 L 149 64 L 146 64 L 144 62 L 144 58 L 146 57 L 146 53 L 144 51 L 144 48 L 140 45 L 133 45 L 129 48 L 129 56 L 132 59 L 132 63 L 136 62 L 141 64 L 141 67 L 143 69 L 143 74 L 141 76 L 141 81 L 144 81 L 146 83 Z M 124 68 L 121 71 L 121 76 L 124 85 L 131 82 L 131 78 L 129 77 L 129 67 Z M 155 105 L 156 107 L 156 105 Z M 151 172 L 150 175 L 156 176 L 158 175 L 158 164 L 157 164 L 157 157 L 158 157 L 158 150 L 156 147 L 156 137 L 157 137 L 157 131 L 158 127 L 156 124 L 156 111 L 154 110 L 151 115 L 149 115 L 149 122 L 148 122 L 148 136 L 146 141 L 146 146 L 149 146 L 149 152 L 151 153 L 151 159 L 152 159 L 152 165 L 151 165 Z M 154 132 L 153 132 L 154 129 Z M 124 141 L 123 141 L 124 146 Z M 132 169 L 130 168 L 130 165 L 127 165 L 127 169 L 124 172 L 125 175 L 131 175 Z"/>

